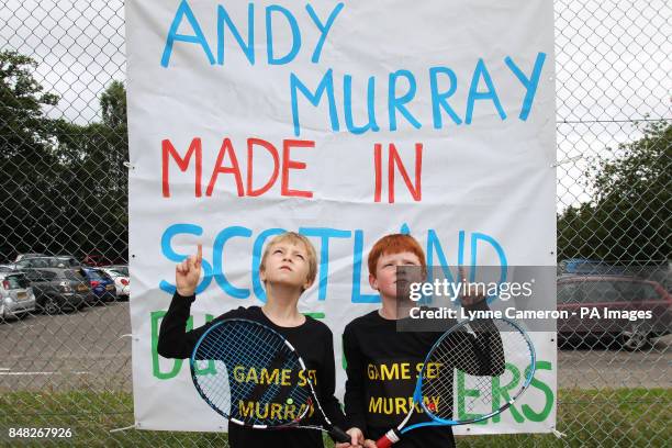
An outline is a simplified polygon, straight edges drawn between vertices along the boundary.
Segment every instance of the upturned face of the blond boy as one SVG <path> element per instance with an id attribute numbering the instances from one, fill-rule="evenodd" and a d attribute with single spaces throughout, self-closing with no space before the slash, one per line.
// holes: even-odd
<path id="1" fill-rule="evenodd" d="M 302 244 L 282 242 L 273 245 L 266 258 L 265 269 L 259 272 L 261 281 L 307 289 L 310 287 L 307 257 Z"/>

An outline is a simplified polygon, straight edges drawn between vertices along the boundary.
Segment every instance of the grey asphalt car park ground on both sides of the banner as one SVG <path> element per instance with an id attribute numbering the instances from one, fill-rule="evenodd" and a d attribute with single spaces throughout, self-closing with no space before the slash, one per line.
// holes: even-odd
<path id="1" fill-rule="evenodd" d="M 131 392 L 130 333 L 128 302 L 0 323 L 0 392 Z M 672 388 L 672 335 L 645 351 L 560 349 L 558 361 L 559 388 Z"/>

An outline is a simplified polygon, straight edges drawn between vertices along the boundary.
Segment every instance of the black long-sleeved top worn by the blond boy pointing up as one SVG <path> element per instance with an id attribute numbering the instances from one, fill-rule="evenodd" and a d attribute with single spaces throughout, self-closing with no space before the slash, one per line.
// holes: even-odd
<path id="1" fill-rule="evenodd" d="M 216 322 L 225 318 L 247 318 L 264 324 L 280 333 L 296 352 L 303 358 L 309 374 L 314 371 L 313 384 L 322 408 L 336 426 L 344 427 L 345 416 L 338 400 L 334 396 L 336 377 L 334 367 L 334 340 L 332 331 L 322 322 L 306 317 L 302 325 L 296 327 L 280 327 L 273 324 L 259 306 L 238 307 L 222 314 L 212 322 L 193 331 L 187 332 L 191 303 L 195 296 L 183 298 L 179 294 L 172 296 L 168 312 L 161 321 L 157 351 L 166 358 L 187 359 L 191 357 L 199 338 Z M 194 393 L 195 390 L 194 390 Z M 315 411 L 318 415 L 318 411 Z M 320 424 L 317 415 L 301 421 L 302 425 Z M 322 433 L 314 429 L 291 428 L 282 430 L 261 430 L 242 427 L 236 424 L 228 425 L 228 444 L 232 448 L 251 447 L 320 447 L 324 446 Z"/>

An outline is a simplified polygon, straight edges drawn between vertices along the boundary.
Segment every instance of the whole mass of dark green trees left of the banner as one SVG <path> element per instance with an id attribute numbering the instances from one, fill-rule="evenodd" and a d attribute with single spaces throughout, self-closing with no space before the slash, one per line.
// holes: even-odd
<path id="1" fill-rule="evenodd" d="M 103 121 L 54 120 L 58 98 L 35 80 L 36 63 L 0 53 L 0 261 L 16 253 L 127 256 L 126 96 L 113 81 Z"/>

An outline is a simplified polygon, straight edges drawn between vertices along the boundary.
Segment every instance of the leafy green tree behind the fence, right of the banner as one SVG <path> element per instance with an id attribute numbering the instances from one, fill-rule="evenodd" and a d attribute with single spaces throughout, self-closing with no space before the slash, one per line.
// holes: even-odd
<path id="1" fill-rule="evenodd" d="M 560 258 L 662 262 L 672 258 L 672 125 L 651 122 L 620 156 L 586 171 L 593 200 L 558 220 Z"/>

